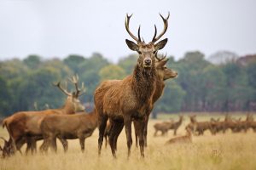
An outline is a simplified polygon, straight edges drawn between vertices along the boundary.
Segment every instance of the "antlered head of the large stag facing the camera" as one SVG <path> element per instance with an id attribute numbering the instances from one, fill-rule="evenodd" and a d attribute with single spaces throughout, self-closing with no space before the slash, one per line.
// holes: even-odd
<path id="1" fill-rule="evenodd" d="M 158 37 L 156 37 L 157 29 L 156 29 L 156 26 L 154 25 L 154 37 L 153 37 L 152 41 L 148 42 L 148 43 L 142 41 L 142 39 L 140 37 L 140 26 L 139 26 L 138 32 L 137 32 L 138 37 L 134 36 L 131 33 L 131 31 L 129 29 L 131 15 L 130 16 L 128 14 L 126 15 L 125 29 L 137 43 L 132 42 L 128 39 L 126 39 L 125 42 L 131 50 L 137 51 L 137 53 L 139 54 L 138 64 L 143 66 L 143 68 L 146 68 L 146 69 L 151 68 L 152 66 L 154 66 L 154 62 L 155 62 L 154 58 L 155 58 L 158 50 L 160 50 L 166 46 L 166 42 L 168 40 L 167 38 L 164 40 L 161 40 L 160 42 L 157 42 L 157 41 L 160 40 L 160 37 L 162 37 L 166 33 L 166 30 L 168 27 L 168 19 L 169 19 L 170 14 L 168 14 L 166 19 L 160 14 L 160 17 L 164 21 L 164 30 L 160 33 L 160 35 Z"/>

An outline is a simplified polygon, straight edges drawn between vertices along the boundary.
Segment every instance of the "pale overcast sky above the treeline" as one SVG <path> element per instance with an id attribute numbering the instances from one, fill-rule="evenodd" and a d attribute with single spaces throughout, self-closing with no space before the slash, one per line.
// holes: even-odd
<path id="1" fill-rule="evenodd" d="M 154 24 L 162 31 L 159 13 L 170 11 L 163 53 L 176 59 L 200 50 L 207 56 L 228 50 L 256 53 L 255 0 L 0 0 L 0 59 L 44 58 L 99 52 L 117 61 L 131 50 L 125 38 L 125 14 L 131 31 L 149 42 Z M 163 37 L 163 38 L 164 38 Z"/>

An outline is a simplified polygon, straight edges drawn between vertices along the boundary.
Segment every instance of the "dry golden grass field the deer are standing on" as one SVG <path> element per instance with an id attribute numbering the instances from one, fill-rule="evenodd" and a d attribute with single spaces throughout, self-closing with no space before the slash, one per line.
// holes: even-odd
<path id="1" fill-rule="evenodd" d="M 172 116 L 177 120 L 177 115 Z M 221 117 L 224 116 L 216 116 Z M 239 117 L 239 116 L 237 116 Z M 245 116 L 242 116 L 244 119 Z M 160 116 L 162 119 L 170 116 Z M 197 120 L 209 120 L 210 116 L 198 116 Z M 256 169 L 256 133 L 249 130 L 247 133 L 218 133 L 212 136 L 206 132 L 204 136 L 193 136 L 192 144 L 172 144 L 164 145 L 166 140 L 173 137 L 169 131 L 165 137 L 154 137 L 154 123 L 163 120 L 150 120 L 148 123 L 148 148 L 145 151 L 145 158 L 142 159 L 139 150 L 135 147 L 135 140 L 131 150 L 131 157 L 127 159 L 127 147 L 125 132 L 120 134 L 118 141 L 117 159 L 114 160 L 109 146 L 102 148 L 102 156 L 97 156 L 97 136 L 96 129 L 93 135 L 85 140 L 84 154 L 80 151 L 79 140 L 69 140 L 69 150 L 67 154 L 58 143 L 58 153 L 48 152 L 46 155 L 40 153 L 36 155 L 15 156 L 0 159 L 0 170 L 26 169 L 147 169 L 147 170 L 172 170 L 172 169 Z M 189 117 L 185 116 L 185 121 L 177 130 L 177 136 L 185 134 L 184 127 L 189 122 Z M 5 129 L 0 129 L 0 135 L 8 138 Z M 3 141 L 1 140 L 1 144 Z M 40 145 L 39 143 L 38 145 Z M 22 148 L 22 150 L 24 150 Z"/>

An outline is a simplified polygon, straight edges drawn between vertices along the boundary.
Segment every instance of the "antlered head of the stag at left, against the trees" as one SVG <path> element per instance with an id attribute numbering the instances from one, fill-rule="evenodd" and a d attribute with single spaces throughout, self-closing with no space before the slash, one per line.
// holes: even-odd
<path id="1" fill-rule="evenodd" d="M 73 105 L 74 111 L 84 111 L 84 105 L 81 104 L 79 100 L 79 96 L 84 94 L 84 82 L 82 83 L 82 88 L 79 88 L 79 76 L 73 76 L 72 78 L 68 78 L 70 82 L 72 82 L 76 88 L 76 90 L 72 93 L 68 92 L 67 89 L 61 87 L 61 82 L 54 84 L 55 87 L 61 89 L 61 92 L 67 95 L 67 102 L 70 102 Z"/>

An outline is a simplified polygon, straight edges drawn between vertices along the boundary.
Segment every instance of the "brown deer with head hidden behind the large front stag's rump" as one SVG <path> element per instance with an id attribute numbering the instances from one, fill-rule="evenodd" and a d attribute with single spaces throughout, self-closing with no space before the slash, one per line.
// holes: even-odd
<path id="1" fill-rule="evenodd" d="M 73 115 L 48 115 L 41 122 L 40 128 L 44 143 L 40 150 L 48 150 L 49 146 L 56 152 L 56 138 L 79 139 L 81 150 L 84 152 L 84 140 L 91 136 L 97 126 L 96 111 Z"/>

